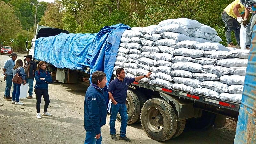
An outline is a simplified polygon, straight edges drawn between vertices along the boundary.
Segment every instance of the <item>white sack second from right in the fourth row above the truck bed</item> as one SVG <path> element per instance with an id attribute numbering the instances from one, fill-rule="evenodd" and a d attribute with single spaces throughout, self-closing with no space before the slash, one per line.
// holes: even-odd
<path id="1" fill-rule="evenodd" d="M 216 74 L 218 76 L 223 76 L 229 74 L 227 67 L 222 66 L 214 66 L 214 65 L 203 65 L 201 67 L 203 72 L 208 72 L 212 74 Z"/>

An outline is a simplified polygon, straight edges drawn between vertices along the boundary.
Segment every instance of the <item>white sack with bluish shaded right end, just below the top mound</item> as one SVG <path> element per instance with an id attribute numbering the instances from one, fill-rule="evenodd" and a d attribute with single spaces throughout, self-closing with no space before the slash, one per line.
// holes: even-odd
<path id="1" fill-rule="evenodd" d="M 176 41 L 186 41 L 186 40 L 192 41 L 193 40 L 192 38 L 190 38 L 189 36 L 186 36 L 184 34 L 174 33 L 174 32 L 170 32 L 170 31 L 163 32 L 160 35 L 163 38 L 174 39 Z"/>

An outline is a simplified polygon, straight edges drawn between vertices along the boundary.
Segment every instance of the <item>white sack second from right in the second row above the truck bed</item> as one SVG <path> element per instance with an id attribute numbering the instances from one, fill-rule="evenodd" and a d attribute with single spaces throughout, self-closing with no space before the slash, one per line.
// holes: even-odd
<path id="1" fill-rule="evenodd" d="M 213 91 L 224 93 L 228 91 L 228 85 L 219 81 L 204 81 L 200 85 L 204 88 L 212 89 Z"/>

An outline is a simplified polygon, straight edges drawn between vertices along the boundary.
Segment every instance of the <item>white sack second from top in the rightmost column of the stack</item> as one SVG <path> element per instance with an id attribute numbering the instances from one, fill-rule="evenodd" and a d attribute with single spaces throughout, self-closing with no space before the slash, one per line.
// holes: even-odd
<path id="1" fill-rule="evenodd" d="M 223 67 L 247 67 L 248 59 L 226 58 L 217 60 L 216 64 Z"/>

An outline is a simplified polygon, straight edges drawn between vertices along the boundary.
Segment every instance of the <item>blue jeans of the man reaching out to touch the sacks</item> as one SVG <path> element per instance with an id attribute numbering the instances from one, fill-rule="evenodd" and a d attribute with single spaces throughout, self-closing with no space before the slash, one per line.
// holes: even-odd
<path id="1" fill-rule="evenodd" d="M 121 116 L 121 128 L 120 128 L 120 137 L 125 137 L 126 135 L 126 127 L 127 127 L 127 120 L 128 120 L 128 115 L 127 115 L 127 108 L 125 104 L 120 104 L 117 103 L 114 105 L 112 103 L 111 105 L 111 116 L 109 120 L 109 126 L 110 126 L 110 134 L 116 134 L 116 129 L 115 129 L 115 121 L 116 121 L 116 116 L 117 113 L 119 112 Z"/>

